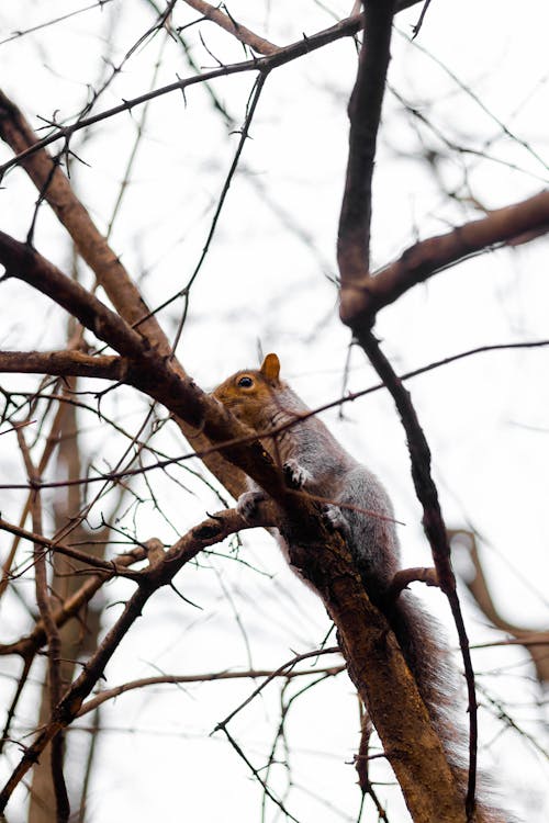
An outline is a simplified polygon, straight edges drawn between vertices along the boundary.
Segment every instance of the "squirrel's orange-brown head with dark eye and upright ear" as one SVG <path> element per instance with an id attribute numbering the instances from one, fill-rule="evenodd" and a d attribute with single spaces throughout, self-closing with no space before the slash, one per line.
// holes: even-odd
<path id="1" fill-rule="evenodd" d="M 215 388 L 212 394 L 239 420 L 255 431 L 269 427 L 274 397 L 283 388 L 279 380 L 280 361 L 277 354 L 267 354 L 261 368 L 236 372 Z"/>

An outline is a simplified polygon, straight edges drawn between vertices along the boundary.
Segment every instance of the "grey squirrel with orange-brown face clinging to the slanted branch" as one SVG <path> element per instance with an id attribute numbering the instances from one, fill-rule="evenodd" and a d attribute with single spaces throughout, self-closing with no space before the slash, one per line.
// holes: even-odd
<path id="1" fill-rule="evenodd" d="M 259 370 L 236 372 L 213 391 L 213 396 L 260 437 L 289 486 L 326 501 L 325 518 L 340 531 L 370 600 L 385 615 L 464 797 L 467 768 L 459 746 L 463 732 L 455 717 L 458 686 L 442 629 L 410 591 L 388 597 L 399 570 L 400 545 L 385 488 L 280 380 L 277 354 L 267 354 Z M 274 436 L 264 437 L 273 429 Z M 239 496 L 237 510 L 254 522 L 257 507 L 265 499 L 265 492 L 247 477 L 247 491 Z M 290 561 L 284 538 L 277 529 L 271 531 Z M 293 571 L 301 577 L 298 570 Z M 475 820 L 506 823 L 509 819 L 478 802 Z"/>

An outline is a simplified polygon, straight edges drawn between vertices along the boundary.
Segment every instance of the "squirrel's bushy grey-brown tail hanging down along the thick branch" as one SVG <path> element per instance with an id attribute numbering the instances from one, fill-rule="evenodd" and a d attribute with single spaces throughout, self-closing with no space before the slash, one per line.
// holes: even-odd
<path id="1" fill-rule="evenodd" d="M 468 786 L 468 733 L 466 723 L 459 717 L 458 707 L 463 707 L 461 714 L 464 718 L 466 706 L 444 630 L 408 591 L 400 595 L 388 618 L 440 737 L 464 802 Z M 479 782 L 482 783 L 482 778 Z M 477 823 L 513 823 L 509 815 L 486 804 L 481 794 L 482 788 L 477 793 Z"/>

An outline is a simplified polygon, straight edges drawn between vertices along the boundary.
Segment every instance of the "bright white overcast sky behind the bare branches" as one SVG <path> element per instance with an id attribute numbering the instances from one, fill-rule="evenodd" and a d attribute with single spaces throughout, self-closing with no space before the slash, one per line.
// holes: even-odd
<path id="1" fill-rule="evenodd" d="M 53 8 L 55 5 L 55 10 Z M 31 30 L 52 15 L 81 9 L 82 1 L 46 0 L 2 3 L 0 59 L 2 88 L 35 128 L 45 121 L 72 122 L 155 21 L 146 0 L 112 0 L 67 20 Z M 232 0 L 231 14 L 278 45 L 313 34 L 349 12 L 350 0 L 326 3 Z M 164 7 L 161 7 L 164 8 Z M 517 202 L 547 185 L 549 111 L 547 3 L 526 8 L 506 0 L 482 3 L 433 0 L 422 31 L 410 41 L 421 7 L 395 19 L 390 90 L 374 177 L 372 257 L 386 264 L 415 239 L 448 230 L 485 211 Z M 333 10 L 335 18 L 328 13 Z M 198 19 L 176 4 L 173 26 Z M 202 35 L 203 43 L 199 37 Z M 182 32 L 197 64 L 245 59 L 240 44 L 214 24 Z M 338 42 L 276 70 L 257 108 L 239 170 L 232 182 L 210 252 L 192 286 L 189 319 L 178 348 L 188 371 L 211 388 L 227 374 L 258 361 L 258 349 L 276 350 L 283 375 L 311 405 L 343 392 L 376 384 L 373 370 L 355 349 L 348 379 L 344 370 L 349 335 L 337 315 L 335 238 L 346 166 L 346 105 L 356 71 L 351 40 Z M 180 44 L 163 32 L 146 38 L 98 98 L 92 112 L 160 88 L 192 69 Z M 71 148 L 72 180 L 101 230 L 108 230 L 137 127 L 143 128 L 130 183 L 116 213 L 111 243 L 138 280 L 152 306 L 181 290 L 192 275 L 210 230 L 255 76 L 215 80 L 211 88 L 232 119 L 214 110 L 201 86 L 154 100 L 146 109 L 120 114 L 80 132 Z M 410 114 L 406 105 L 423 115 Z M 145 122 L 142 119 L 145 117 Z M 42 134 L 42 133 L 41 133 Z M 449 145 L 460 150 L 451 151 Z M 433 159 L 425 160 L 426 154 Z M 0 161 L 10 153 L 0 146 Z M 0 228 L 24 239 L 36 192 L 24 172 L 14 170 L 0 191 Z M 448 193 L 455 196 L 449 198 Z M 66 234 L 45 207 L 40 210 L 35 246 L 70 272 Z M 377 331 L 399 372 L 468 349 L 549 338 L 549 286 L 545 238 L 494 250 L 461 263 L 417 286 L 384 309 Z M 91 284 L 82 267 L 81 277 Z M 60 309 L 21 283 L 0 284 L 0 346 L 7 350 L 47 349 L 64 345 Z M 100 295 L 104 297 L 104 295 Z M 182 302 L 159 314 L 175 334 Z M 481 540 L 491 589 L 502 615 L 520 625 L 547 627 L 547 492 L 549 432 L 549 351 L 524 349 L 482 353 L 414 379 L 412 391 L 434 455 L 447 523 L 474 527 Z M 7 387 L 36 386 L 38 379 L 2 377 Z M 97 384 L 96 384 L 97 387 Z M 108 395 L 103 410 L 138 430 L 147 404 L 133 392 Z M 403 431 L 383 392 L 348 404 L 323 419 L 351 452 L 383 480 L 394 503 L 403 562 L 426 565 L 429 552 L 421 530 Z M 82 418 L 83 444 L 98 465 L 115 462 L 125 448 L 103 425 Z M 166 427 L 155 441 L 170 454 L 187 451 Z M 4 478 L 22 477 L 15 443 L 2 439 Z M 103 461 L 103 462 L 101 462 Z M 8 480 L 5 480 L 8 477 Z M 155 477 L 155 493 L 166 517 L 152 500 L 128 511 L 125 528 L 139 540 L 153 534 L 172 542 L 177 534 L 217 506 L 214 494 L 184 475 L 193 495 L 166 476 Z M 146 498 L 144 485 L 136 483 Z M 49 498 L 53 505 L 53 497 Z M 104 511 L 109 511 L 105 498 Z M 19 518 L 21 496 L 7 492 L 2 516 Z M 100 521 L 98 509 L 94 523 Z M 7 551 L 9 541 L 0 537 Z M 295 652 L 317 647 L 329 629 L 316 598 L 284 567 L 262 533 L 244 539 L 235 561 L 232 548 L 186 568 L 177 583 L 201 609 L 160 591 L 124 641 L 107 670 L 108 685 L 158 673 L 219 672 L 224 668 L 276 668 Z M 464 559 L 457 559 L 457 564 Z M 200 572 L 200 573 L 199 573 Z M 31 583 L 21 596 L 30 601 Z M 130 585 L 107 587 L 116 604 Z M 440 595 L 421 594 L 449 629 Z M 467 600 L 473 643 L 501 635 L 485 625 Z M 4 599 L 2 642 L 24 631 L 21 601 Z M 113 605 L 107 620 L 120 613 Z M 505 700 L 528 735 L 541 740 L 541 707 L 533 669 L 522 650 L 497 647 L 473 652 L 479 683 L 490 698 Z M 321 665 L 321 664 L 318 664 Z M 1 658 L 0 670 L 15 674 L 19 662 Z M 40 670 L 33 673 L 36 680 Z M 292 686 L 298 690 L 299 686 Z M 3 700 L 12 683 L 2 678 Z M 209 736 L 254 688 L 254 683 L 203 684 L 138 691 L 107 704 L 105 731 L 99 743 L 90 790 L 90 823 L 158 819 L 260 820 L 261 792 L 223 735 Z M 30 689 L 19 718 L 33 726 L 37 688 Z M 481 695 L 481 702 L 489 698 Z M 250 759 L 260 765 L 274 739 L 280 694 L 273 686 L 235 721 L 232 730 Z M 502 731 L 491 712 L 481 710 L 483 760 L 497 775 L 505 803 L 528 823 L 547 820 L 547 762 L 527 735 Z M 82 719 L 82 726 L 87 719 Z M 358 790 L 349 760 L 358 741 L 358 712 L 345 675 L 311 689 L 295 701 L 288 724 L 294 788 L 288 807 L 303 823 L 356 820 Z M 86 731 L 69 732 L 71 755 L 79 756 Z M 547 743 L 545 744 L 547 746 Z M 282 751 L 282 749 L 281 749 Z M 9 751 L 10 763 L 19 757 Z M 376 779 L 391 780 L 376 763 Z M 284 792 L 285 769 L 274 768 L 272 783 Z M 214 787 L 214 788 L 212 788 Z M 380 787 L 392 823 L 406 813 L 399 793 Z M 10 823 L 24 818 L 25 790 L 14 796 Z M 266 820 L 277 819 L 268 804 Z M 369 815 L 373 815 L 369 810 Z M 366 815 L 365 819 L 373 820 Z"/>

